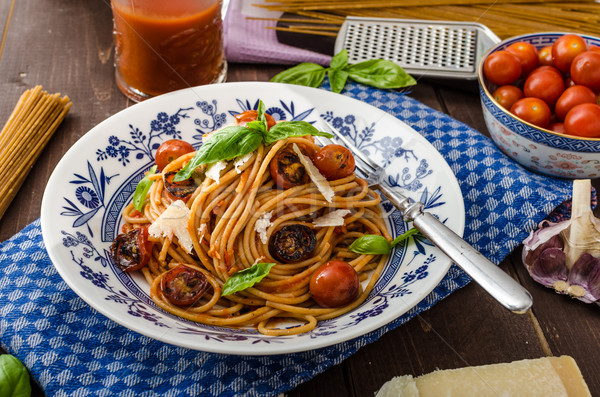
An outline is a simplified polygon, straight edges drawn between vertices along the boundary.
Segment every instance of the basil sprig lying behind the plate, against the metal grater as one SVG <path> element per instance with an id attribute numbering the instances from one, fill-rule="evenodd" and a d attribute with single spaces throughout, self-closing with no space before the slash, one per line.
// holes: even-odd
<path id="1" fill-rule="evenodd" d="M 315 63 L 301 63 L 275 75 L 271 81 L 318 87 L 329 75 L 331 91 L 341 92 L 348 79 L 377 88 L 403 88 L 417 84 L 417 81 L 398 64 L 385 59 L 371 59 L 348 64 L 348 52 L 337 53 L 328 68 Z"/>

